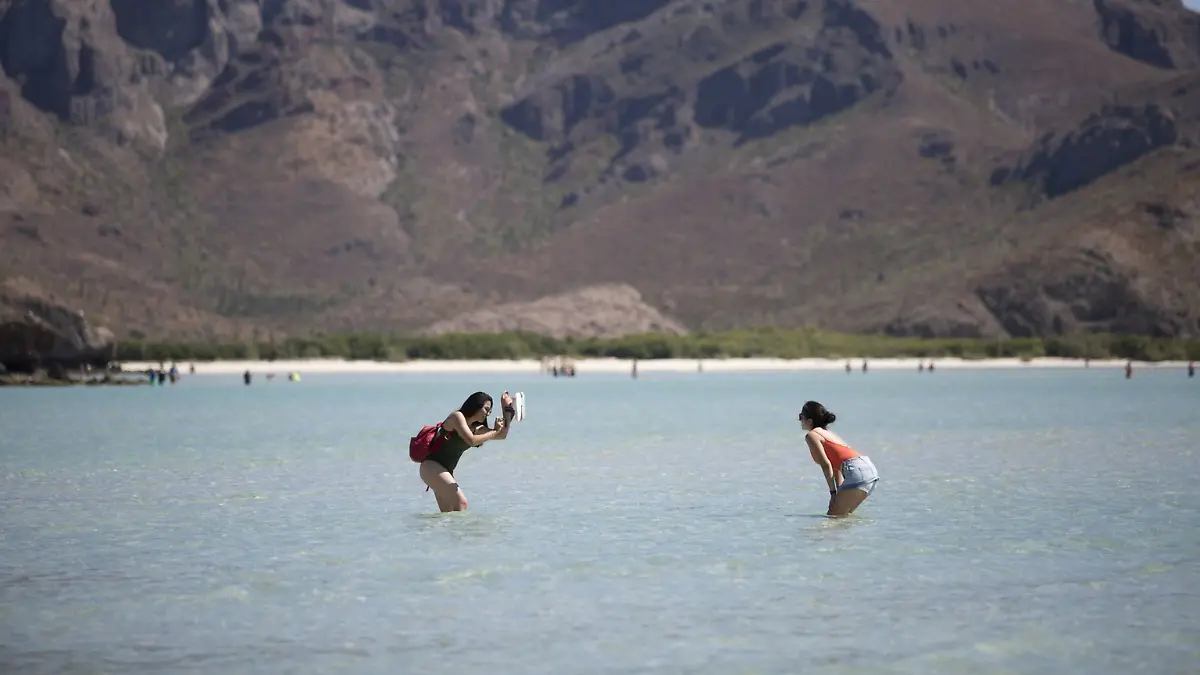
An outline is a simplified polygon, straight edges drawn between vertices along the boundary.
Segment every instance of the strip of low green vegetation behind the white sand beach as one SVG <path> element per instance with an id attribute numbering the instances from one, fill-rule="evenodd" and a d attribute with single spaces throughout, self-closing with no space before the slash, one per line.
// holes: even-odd
<path id="1" fill-rule="evenodd" d="M 917 339 L 845 335 L 814 329 L 760 328 L 695 335 L 630 335 L 556 340 L 532 333 L 449 334 L 437 338 L 335 334 L 271 342 L 181 344 L 122 341 L 119 360 L 344 358 L 353 360 L 520 359 L 544 356 L 667 358 L 1092 358 L 1200 359 L 1200 340 L 1141 335 L 1073 335 L 1046 339 Z"/>

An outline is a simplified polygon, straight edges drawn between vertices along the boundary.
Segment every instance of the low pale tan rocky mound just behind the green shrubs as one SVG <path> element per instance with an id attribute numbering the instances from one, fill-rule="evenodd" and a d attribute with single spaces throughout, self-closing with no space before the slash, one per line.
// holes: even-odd
<path id="1" fill-rule="evenodd" d="M 631 286 L 592 286 L 532 303 L 510 303 L 480 309 L 430 325 L 427 335 L 445 333 L 506 333 L 523 330 L 557 339 L 619 338 L 636 333 L 673 333 L 686 329 L 647 305 Z"/>

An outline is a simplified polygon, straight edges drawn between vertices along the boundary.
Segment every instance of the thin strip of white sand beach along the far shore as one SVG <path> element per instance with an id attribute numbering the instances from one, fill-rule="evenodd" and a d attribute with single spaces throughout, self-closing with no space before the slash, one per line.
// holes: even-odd
<path id="1" fill-rule="evenodd" d="M 802 371 L 845 371 L 851 364 L 851 375 L 863 375 L 862 358 L 851 359 L 640 359 L 637 372 L 802 372 Z M 373 362 L 346 359 L 280 359 L 268 360 L 214 360 L 214 362 L 164 362 L 167 368 L 175 363 L 181 375 L 188 375 L 188 366 L 194 364 L 196 375 L 240 375 L 248 370 L 253 375 L 304 375 L 332 374 L 536 374 L 550 376 L 544 364 L 536 359 L 522 360 L 410 360 L 410 362 Z M 553 363 L 553 362 L 551 362 Z M 577 375 L 618 374 L 629 375 L 632 359 L 617 358 L 581 358 L 564 359 L 575 365 Z M 1030 360 L 1019 358 L 961 359 L 961 358 L 877 358 L 866 359 L 868 374 L 874 371 L 917 371 L 919 364 L 934 364 L 937 370 L 1013 370 L 1013 369 L 1123 369 L 1124 359 L 1093 359 L 1085 365 L 1084 359 L 1042 357 Z M 1132 362 L 1134 370 L 1187 369 L 1188 362 Z M 126 375 L 158 368 L 157 362 L 124 362 L 120 364 Z"/>

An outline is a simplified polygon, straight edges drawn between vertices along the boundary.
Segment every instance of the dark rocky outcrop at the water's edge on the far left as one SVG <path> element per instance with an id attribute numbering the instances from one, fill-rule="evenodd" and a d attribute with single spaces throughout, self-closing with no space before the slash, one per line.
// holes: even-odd
<path id="1" fill-rule="evenodd" d="M 113 333 L 88 323 L 82 311 L 29 292 L 28 282 L 0 286 L 0 365 L 10 372 L 104 368 L 113 359 Z"/>

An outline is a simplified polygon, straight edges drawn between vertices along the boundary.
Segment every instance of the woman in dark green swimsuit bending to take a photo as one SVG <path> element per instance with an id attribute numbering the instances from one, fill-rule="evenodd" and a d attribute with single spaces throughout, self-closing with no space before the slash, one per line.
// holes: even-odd
<path id="1" fill-rule="evenodd" d="M 469 448 L 478 448 L 487 441 L 503 441 L 509 437 L 509 423 L 512 422 L 512 399 L 505 392 L 500 396 L 504 417 L 496 418 L 496 425 L 487 428 L 487 416 L 492 414 L 492 398 L 484 392 L 475 392 L 462 404 L 462 407 L 450 413 L 442 423 L 443 436 L 440 447 L 428 459 L 421 462 L 421 480 L 433 490 L 438 508 L 448 510 L 467 510 L 467 496 L 454 478 L 462 454 Z"/>

